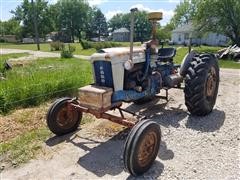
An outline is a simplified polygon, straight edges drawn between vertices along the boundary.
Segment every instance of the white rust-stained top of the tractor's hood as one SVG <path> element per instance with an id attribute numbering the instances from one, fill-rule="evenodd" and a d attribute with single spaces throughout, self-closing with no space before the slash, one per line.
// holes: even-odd
<path id="1" fill-rule="evenodd" d="M 91 56 L 91 61 L 111 61 L 112 64 L 124 63 L 129 59 L 129 47 L 116 47 L 101 49 L 98 53 Z M 145 61 L 145 48 L 133 48 L 133 63 L 140 63 Z"/>

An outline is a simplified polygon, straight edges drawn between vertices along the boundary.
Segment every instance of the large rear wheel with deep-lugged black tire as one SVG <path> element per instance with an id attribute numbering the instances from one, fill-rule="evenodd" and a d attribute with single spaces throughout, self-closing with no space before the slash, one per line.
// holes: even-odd
<path id="1" fill-rule="evenodd" d="M 186 71 L 185 104 L 193 115 L 209 114 L 215 105 L 219 86 L 219 66 L 215 56 L 200 54 Z"/>

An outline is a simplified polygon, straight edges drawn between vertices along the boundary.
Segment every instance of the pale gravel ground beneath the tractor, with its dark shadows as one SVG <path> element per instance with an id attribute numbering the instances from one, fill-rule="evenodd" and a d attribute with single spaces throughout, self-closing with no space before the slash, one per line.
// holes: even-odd
<path id="1" fill-rule="evenodd" d="M 240 71 L 221 70 L 216 106 L 205 117 L 192 117 L 183 92 L 170 90 L 170 101 L 145 106 L 125 104 L 158 122 L 162 142 L 158 158 L 142 179 L 240 179 Z M 52 137 L 41 156 L 2 179 L 134 179 L 123 170 L 125 134 L 101 136 L 108 121 L 95 121 L 73 135 Z"/>

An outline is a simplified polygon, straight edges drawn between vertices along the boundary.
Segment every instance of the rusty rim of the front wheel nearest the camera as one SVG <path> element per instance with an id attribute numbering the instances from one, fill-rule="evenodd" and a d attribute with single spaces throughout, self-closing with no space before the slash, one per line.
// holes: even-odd
<path id="1" fill-rule="evenodd" d="M 151 163 L 156 149 L 157 149 L 157 134 L 155 132 L 149 132 L 143 137 L 137 156 L 139 165 L 141 167 L 145 167 L 149 163 Z"/>

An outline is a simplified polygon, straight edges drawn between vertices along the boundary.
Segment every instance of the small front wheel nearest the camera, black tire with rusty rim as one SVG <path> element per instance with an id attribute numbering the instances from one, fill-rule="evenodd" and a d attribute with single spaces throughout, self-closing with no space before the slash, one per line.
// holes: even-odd
<path id="1" fill-rule="evenodd" d="M 160 141 L 160 126 L 153 121 L 140 121 L 133 127 L 125 143 L 125 169 L 133 176 L 145 173 L 156 159 Z"/>

